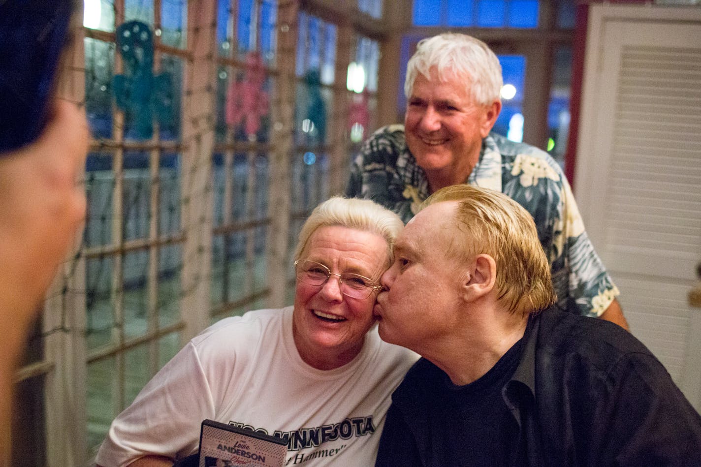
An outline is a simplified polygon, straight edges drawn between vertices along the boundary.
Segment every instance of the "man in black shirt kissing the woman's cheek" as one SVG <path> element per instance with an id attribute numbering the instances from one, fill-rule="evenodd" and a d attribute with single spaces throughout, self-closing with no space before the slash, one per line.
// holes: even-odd
<path id="1" fill-rule="evenodd" d="M 380 336 L 420 353 L 376 466 L 701 466 L 701 417 L 618 325 L 554 307 L 526 210 L 437 191 L 395 244 Z"/>

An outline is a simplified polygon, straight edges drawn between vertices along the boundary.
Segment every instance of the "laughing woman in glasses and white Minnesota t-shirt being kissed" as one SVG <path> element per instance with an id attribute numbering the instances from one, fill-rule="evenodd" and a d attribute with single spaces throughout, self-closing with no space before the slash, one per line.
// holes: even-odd
<path id="1" fill-rule="evenodd" d="M 285 465 L 372 465 L 390 394 L 418 358 L 381 341 L 372 316 L 403 227 L 372 201 L 318 205 L 294 252 L 294 306 L 192 339 L 114 420 L 97 463 L 172 466 L 212 419 L 287 440 Z"/>

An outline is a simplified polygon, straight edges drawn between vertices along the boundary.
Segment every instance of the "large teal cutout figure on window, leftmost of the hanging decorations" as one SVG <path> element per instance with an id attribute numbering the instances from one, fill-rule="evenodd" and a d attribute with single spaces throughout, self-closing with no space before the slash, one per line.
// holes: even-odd
<path id="1" fill-rule="evenodd" d="M 153 36 L 143 22 L 120 25 L 116 43 L 124 72 L 114 76 L 114 100 L 133 119 L 134 136 L 147 140 L 154 134 L 154 118 L 162 125 L 172 121 L 170 74 L 154 76 Z"/>

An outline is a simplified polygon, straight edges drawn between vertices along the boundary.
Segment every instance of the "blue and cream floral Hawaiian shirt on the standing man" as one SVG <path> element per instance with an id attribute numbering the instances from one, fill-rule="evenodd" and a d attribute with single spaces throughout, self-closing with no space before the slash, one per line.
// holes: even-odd
<path id="1" fill-rule="evenodd" d="M 545 151 L 491 133 L 466 183 L 501 191 L 531 213 L 563 309 L 599 316 L 618 296 L 587 237 L 562 169 Z M 429 194 L 428 179 L 407 148 L 403 125 L 380 128 L 365 142 L 346 188 L 346 196 L 372 199 L 404 222 Z"/>

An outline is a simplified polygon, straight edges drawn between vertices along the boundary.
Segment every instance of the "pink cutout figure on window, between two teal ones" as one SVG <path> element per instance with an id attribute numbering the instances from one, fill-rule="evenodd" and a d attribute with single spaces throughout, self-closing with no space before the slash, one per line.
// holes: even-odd
<path id="1" fill-rule="evenodd" d="M 238 126 L 244 123 L 248 137 L 258 133 L 261 118 L 268 114 L 268 93 L 263 89 L 265 65 L 258 52 L 250 52 L 246 57 L 242 80 L 231 80 L 226 95 L 226 124 Z"/>

